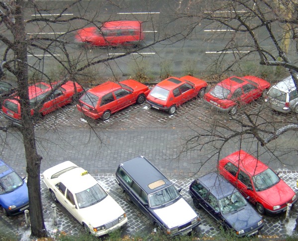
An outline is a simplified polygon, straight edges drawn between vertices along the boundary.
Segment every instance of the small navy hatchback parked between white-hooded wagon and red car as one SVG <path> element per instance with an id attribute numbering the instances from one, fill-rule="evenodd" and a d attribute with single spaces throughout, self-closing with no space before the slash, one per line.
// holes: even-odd
<path id="1" fill-rule="evenodd" d="M 189 192 L 196 208 L 205 209 L 224 228 L 234 230 L 239 237 L 255 235 L 264 226 L 256 210 L 216 172 L 193 181 Z"/>

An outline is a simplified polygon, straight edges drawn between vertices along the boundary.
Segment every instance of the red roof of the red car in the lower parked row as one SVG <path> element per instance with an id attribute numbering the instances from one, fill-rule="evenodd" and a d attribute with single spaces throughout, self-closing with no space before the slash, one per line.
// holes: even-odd
<path id="1" fill-rule="evenodd" d="M 233 162 L 235 165 L 239 166 L 240 169 L 245 170 L 250 176 L 257 175 L 269 168 L 262 161 L 259 161 L 243 150 L 234 152 L 225 159 Z"/>

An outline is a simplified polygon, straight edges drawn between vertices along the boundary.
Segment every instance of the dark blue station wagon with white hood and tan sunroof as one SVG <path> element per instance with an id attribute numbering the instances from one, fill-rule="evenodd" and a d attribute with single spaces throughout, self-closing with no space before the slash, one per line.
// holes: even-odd
<path id="1" fill-rule="evenodd" d="M 146 158 L 120 163 L 116 179 L 128 201 L 165 234 L 185 235 L 199 226 L 199 216 L 180 194 L 181 189 L 177 190 Z"/>

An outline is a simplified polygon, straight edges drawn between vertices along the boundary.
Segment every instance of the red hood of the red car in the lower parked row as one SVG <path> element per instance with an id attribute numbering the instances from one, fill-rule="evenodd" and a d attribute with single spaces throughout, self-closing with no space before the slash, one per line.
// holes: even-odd
<path id="1" fill-rule="evenodd" d="M 295 192 L 283 180 L 280 180 L 276 185 L 267 190 L 259 191 L 258 195 L 270 206 L 276 206 L 292 202 Z"/>

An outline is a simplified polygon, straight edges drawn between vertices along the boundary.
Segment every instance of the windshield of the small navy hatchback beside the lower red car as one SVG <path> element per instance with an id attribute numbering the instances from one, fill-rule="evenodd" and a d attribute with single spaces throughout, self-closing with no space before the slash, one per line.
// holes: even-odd
<path id="1" fill-rule="evenodd" d="M 239 192 L 234 192 L 219 200 L 219 208 L 223 214 L 237 211 L 246 204 L 245 198 Z"/>

